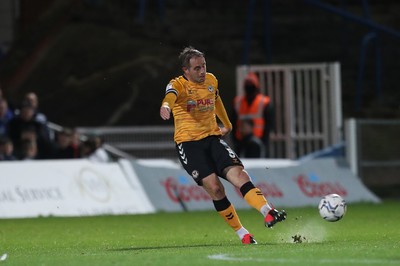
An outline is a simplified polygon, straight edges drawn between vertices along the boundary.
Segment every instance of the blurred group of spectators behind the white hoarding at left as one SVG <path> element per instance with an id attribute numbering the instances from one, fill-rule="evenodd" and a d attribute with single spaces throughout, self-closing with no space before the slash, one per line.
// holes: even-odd
<path id="1" fill-rule="evenodd" d="M 36 93 L 15 105 L 0 93 L 0 161 L 74 158 L 109 161 L 99 137 L 83 138 L 74 128 L 51 130 Z"/>

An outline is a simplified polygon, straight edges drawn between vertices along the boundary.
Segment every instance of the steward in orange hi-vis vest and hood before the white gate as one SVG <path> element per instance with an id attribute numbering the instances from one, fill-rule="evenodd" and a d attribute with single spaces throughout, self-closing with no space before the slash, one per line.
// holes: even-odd
<path id="1" fill-rule="evenodd" d="M 269 133 L 274 124 L 271 100 L 260 92 L 259 78 L 254 72 L 247 74 L 244 91 L 244 95 L 238 95 L 234 99 L 232 113 L 234 149 L 238 154 L 246 154 L 246 148 L 254 145 L 254 139 L 258 138 L 264 145 L 260 150 L 264 152 L 251 157 L 268 157 Z M 253 134 L 243 136 L 242 122 L 249 119 L 253 121 Z"/>

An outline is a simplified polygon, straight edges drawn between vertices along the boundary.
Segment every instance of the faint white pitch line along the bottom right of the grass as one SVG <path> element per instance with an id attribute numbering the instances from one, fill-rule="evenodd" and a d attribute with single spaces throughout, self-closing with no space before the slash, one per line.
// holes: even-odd
<path id="1" fill-rule="evenodd" d="M 387 264 L 400 264 L 400 260 L 391 259 L 315 259 L 315 260 L 299 260 L 299 259 L 288 259 L 288 258 L 243 258 L 234 257 L 228 254 L 214 254 L 208 255 L 209 259 L 212 260 L 225 260 L 225 261 L 257 261 L 257 262 L 273 262 L 273 263 L 296 263 L 306 262 L 306 263 L 337 263 L 337 264 L 377 264 L 377 265 L 387 265 Z"/>

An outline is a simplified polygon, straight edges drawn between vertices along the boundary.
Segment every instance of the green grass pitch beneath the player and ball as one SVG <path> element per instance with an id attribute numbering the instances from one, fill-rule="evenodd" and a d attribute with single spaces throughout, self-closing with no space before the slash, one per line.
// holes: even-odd
<path id="1" fill-rule="evenodd" d="M 0 266 L 400 265 L 399 210 L 400 202 L 353 204 L 330 223 L 315 208 L 291 208 L 274 229 L 239 210 L 258 241 L 251 246 L 213 211 L 0 220 Z"/>

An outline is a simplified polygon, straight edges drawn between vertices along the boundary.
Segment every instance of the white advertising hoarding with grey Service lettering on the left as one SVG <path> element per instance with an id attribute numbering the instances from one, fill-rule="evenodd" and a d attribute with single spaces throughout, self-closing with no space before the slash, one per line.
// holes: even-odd
<path id="1" fill-rule="evenodd" d="M 87 160 L 1 162 L 0 218 L 154 212 L 125 172 Z"/>

